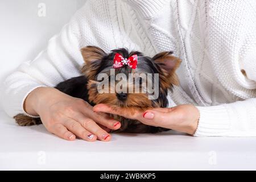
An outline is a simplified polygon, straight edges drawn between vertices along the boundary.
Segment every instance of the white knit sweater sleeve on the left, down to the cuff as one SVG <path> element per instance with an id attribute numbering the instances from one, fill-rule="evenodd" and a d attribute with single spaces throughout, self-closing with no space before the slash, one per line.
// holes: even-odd
<path id="1" fill-rule="evenodd" d="M 46 50 L 34 60 L 22 63 L 6 78 L 3 82 L 2 104 L 10 117 L 26 114 L 23 102 L 35 88 L 53 87 L 68 78 L 80 76 L 80 68 L 84 63 L 81 47 L 93 45 L 107 49 L 107 45 L 112 44 L 112 42 L 108 44 L 104 42 L 104 39 L 110 38 L 104 32 L 99 32 L 98 27 L 95 26 L 98 20 L 103 28 L 110 27 L 104 24 L 104 20 L 109 19 L 108 16 L 99 17 L 99 13 L 94 12 L 95 9 L 101 13 L 106 11 L 104 5 L 99 5 L 102 2 L 106 1 L 86 1 L 71 21 L 63 27 L 60 34 L 49 40 Z"/>

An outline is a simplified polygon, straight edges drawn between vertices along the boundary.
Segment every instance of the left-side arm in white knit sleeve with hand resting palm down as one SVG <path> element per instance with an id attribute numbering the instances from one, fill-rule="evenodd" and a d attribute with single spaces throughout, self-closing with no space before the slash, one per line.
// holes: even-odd
<path id="1" fill-rule="evenodd" d="M 108 141 L 111 138 L 109 130 L 121 126 L 105 114 L 94 113 L 87 102 L 53 88 L 61 81 L 81 75 L 80 68 L 84 63 L 80 52 L 82 47 L 100 46 L 109 51 L 113 46 L 111 40 L 104 42 L 108 39 L 105 31 L 98 32 L 92 23 L 98 21 L 101 26 L 111 27 L 102 24 L 102 21 L 107 21 L 99 19 L 99 13 L 93 12 L 94 6 L 102 7 L 96 3 L 100 1 L 87 1 L 60 34 L 49 40 L 45 51 L 36 59 L 21 64 L 6 78 L 2 102 L 10 117 L 40 115 L 48 131 L 67 140 L 74 140 L 77 136 L 88 141 Z"/>

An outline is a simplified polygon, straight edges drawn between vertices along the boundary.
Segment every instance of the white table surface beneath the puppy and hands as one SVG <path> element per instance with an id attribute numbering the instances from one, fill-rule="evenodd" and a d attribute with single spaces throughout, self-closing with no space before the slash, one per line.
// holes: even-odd
<path id="1" fill-rule="evenodd" d="M 113 134 L 111 142 L 66 140 L 42 125 L 17 126 L 0 111 L 0 169 L 256 169 L 256 138 L 196 138 L 174 132 Z"/>

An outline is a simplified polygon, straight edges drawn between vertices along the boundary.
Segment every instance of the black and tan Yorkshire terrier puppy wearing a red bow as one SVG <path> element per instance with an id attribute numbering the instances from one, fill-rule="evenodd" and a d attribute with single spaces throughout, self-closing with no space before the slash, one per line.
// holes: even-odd
<path id="1" fill-rule="evenodd" d="M 167 107 L 168 91 L 179 84 L 175 71 L 181 60 L 173 56 L 172 52 L 160 52 L 151 58 L 138 51 L 129 52 L 125 48 L 106 53 L 101 48 L 88 46 L 82 48 L 81 53 L 85 61 L 81 70 L 83 76 L 60 82 L 55 88 L 91 105 L 117 106 L 130 114 L 135 110 Z M 118 115 L 111 116 L 121 122 L 121 128 L 115 132 L 157 133 L 168 130 Z M 14 118 L 20 126 L 42 123 L 40 118 L 22 114 Z"/>

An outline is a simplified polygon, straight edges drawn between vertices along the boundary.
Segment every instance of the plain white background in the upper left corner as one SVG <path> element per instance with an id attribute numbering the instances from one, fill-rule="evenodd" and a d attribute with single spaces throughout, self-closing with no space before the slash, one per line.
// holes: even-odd
<path id="1" fill-rule="evenodd" d="M 0 0 L 0 83 L 22 61 L 45 49 L 85 1 Z M 46 4 L 45 17 L 38 16 L 39 3 Z"/>

